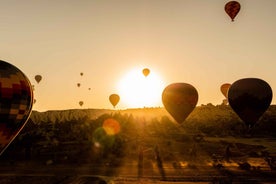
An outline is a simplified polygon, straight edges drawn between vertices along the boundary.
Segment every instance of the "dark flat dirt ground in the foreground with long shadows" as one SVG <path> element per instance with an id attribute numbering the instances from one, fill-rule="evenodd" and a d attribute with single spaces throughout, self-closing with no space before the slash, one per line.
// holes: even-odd
<path id="1" fill-rule="evenodd" d="M 274 139 L 184 139 L 145 137 L 147 143 L 137 145 L 145 147 L 140 166 L 133 153 L 118 166 L 1 163 L 0 183 L 276 183 Z M 159 146 L 159 160 L 150 142 Z"/>

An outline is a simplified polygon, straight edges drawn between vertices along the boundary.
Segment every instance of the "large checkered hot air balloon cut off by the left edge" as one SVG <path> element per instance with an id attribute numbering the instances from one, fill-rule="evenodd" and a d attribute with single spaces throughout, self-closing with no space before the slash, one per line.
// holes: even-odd
<path id="1" fill-rule="evenodd" d="M 26 124 L 32 106 L 29 79 L 17 67 L 0 60 L 0 155 Z"/>

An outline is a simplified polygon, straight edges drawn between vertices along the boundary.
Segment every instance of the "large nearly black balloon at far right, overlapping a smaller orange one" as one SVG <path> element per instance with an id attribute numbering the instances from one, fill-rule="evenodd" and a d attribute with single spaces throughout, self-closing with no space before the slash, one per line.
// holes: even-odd
<path id="1" fill-rule="evenodd" d="M 272 89 L 257 78 L 244 78 L 234 82 L 228 91 L 228 101 L 246 125 L 252 127 L 270 106 Z"/>

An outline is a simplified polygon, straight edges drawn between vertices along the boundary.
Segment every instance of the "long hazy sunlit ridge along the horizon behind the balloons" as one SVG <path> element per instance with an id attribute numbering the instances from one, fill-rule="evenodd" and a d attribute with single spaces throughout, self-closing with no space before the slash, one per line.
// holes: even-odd
<path id="1" fill-rule="evenodd" d="M 137 108 L 125 110 L 110 109 L 69 109 L 58 111 L 37 112 L 33 111 L 30 121 L 34 124 L 41 123 L 66 123 L 71 121 L 96 120 L 103 115 L 113 116 L 120 114 L 142 119 L 150 124 L 152 121 L 167 121 L 177 124 L 164 108 Z M 178 124 L 177 124 L 178 125 Z M 203 132 L 211 135 L 236 135 L 243 134 L 245 124 L 236 113 L 227 105 L 201 105 L 197 106 L 188 118 L 178 126 L 185 127 L 190 132 Z M 276 130 L 276 105 L 271 105 L 253 127 L 253 132 L 274 135 Z M 259 134 L 259 133 L 258 133 Z"/>

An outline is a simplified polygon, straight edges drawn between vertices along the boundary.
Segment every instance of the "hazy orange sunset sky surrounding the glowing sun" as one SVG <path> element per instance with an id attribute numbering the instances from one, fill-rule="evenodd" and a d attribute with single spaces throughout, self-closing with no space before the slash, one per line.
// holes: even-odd
<path id="1" fill-rule="evenodd" d="M 234 22 L 227 2 L 0 0 L 0 59 L 29 77 L 40 111 L 80 108 L 80 100 L 82 108 L 112 108 L 118 83 L 144 67 L 164 87 L 192 84 L 198 105 L 221 104 L 221 84 L 245 77 L 276 90 L 276 1 L 239 0 Z"/>

